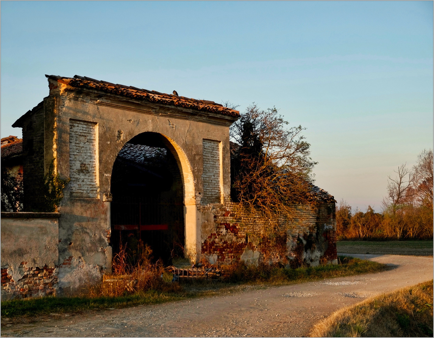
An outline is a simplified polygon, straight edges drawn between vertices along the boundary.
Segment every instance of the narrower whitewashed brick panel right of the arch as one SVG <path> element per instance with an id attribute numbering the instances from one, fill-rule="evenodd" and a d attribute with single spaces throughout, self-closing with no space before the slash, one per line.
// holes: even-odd
<path id="1" fill-rule="evenodd" d="M 204 192 L 202 203 L 220 203 L 220 142 L 203 140 Z"/>

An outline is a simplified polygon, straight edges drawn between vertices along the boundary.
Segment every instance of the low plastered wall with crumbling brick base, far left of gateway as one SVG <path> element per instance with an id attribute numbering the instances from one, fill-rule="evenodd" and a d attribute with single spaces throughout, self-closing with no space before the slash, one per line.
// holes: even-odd
<path id="1" fill-rule="evenodd" d="M 56 295 L 60 213 L 1 213 L 1 299 Z"/>

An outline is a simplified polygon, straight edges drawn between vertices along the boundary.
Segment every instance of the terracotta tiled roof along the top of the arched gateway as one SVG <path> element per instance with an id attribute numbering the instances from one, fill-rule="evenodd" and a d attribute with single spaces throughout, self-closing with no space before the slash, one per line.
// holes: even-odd
<path id="1" fill-rule="evenodd" d="M 117 95 L 126 96 L 138 100 L 148 102 L 181 106 L 184 108 L 192 108 L 198 111 L 207 111 L 217 114 L 223 114 L 233 117 L 238 117 L 240 112 L 230 109 L 215 103 L 214 101 L 197 100 L 195 98 L 186 98 L 184 96 L 165 94 L 155 90 L 140 89 L 133 86 L 119 85 L 111 82 L 95 80 L 86 76 L 74 75 L 72 78 L 62 77 L 58 75 L 45 75 L 49 79 L 62 80 L 68 85 L 75 88 L 88 88 L 102 90 Z"/>

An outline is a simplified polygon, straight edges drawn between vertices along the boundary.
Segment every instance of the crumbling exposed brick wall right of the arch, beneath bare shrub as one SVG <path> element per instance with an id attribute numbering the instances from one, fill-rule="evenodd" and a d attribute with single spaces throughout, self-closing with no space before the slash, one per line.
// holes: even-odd
<path id="1" fill-rule="evenodd" d="M 317 265 L 320 261 L 337 259 L 335 230 L 325 226 L 335 219 L 334 203 L 324 203 L 314 209 L 295 206 L 295 217 L 290 224 L 283 217 L 270 222 L 258 211 L 251 213 L 239 203 L 229 201 L 224 205 L 201 206 L 200 211 L 214 214 L 214 231 L 203 240 L 202 254 L 217 255 L 221 264 L 240 261 L 246 249 L 258 251 L 259 261 L 265 263 L 289 264 L 291 260 L 301 259 Z M 287 230 L 275 231 L 279 226 Z"/>

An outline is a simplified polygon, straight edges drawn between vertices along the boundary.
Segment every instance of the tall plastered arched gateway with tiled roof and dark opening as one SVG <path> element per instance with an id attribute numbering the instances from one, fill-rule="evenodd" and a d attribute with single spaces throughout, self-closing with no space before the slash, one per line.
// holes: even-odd
<path id="1" fill-rule="evenodd" d="M 36 182 L 53 159 L 56 173 L 70 178 L 59 218 L 59 292 L 99 280 L 124 230 L 141 232 L 163 259 L 179 244 L 196 261 L 212 218 L 201 205 L 230 194 L 229 126 L 238 112 L 77 75 L 46 76 L 49 96 L 13 126 L 23 128 L 27 150 L 26 210 L 43 209 Z"/>

